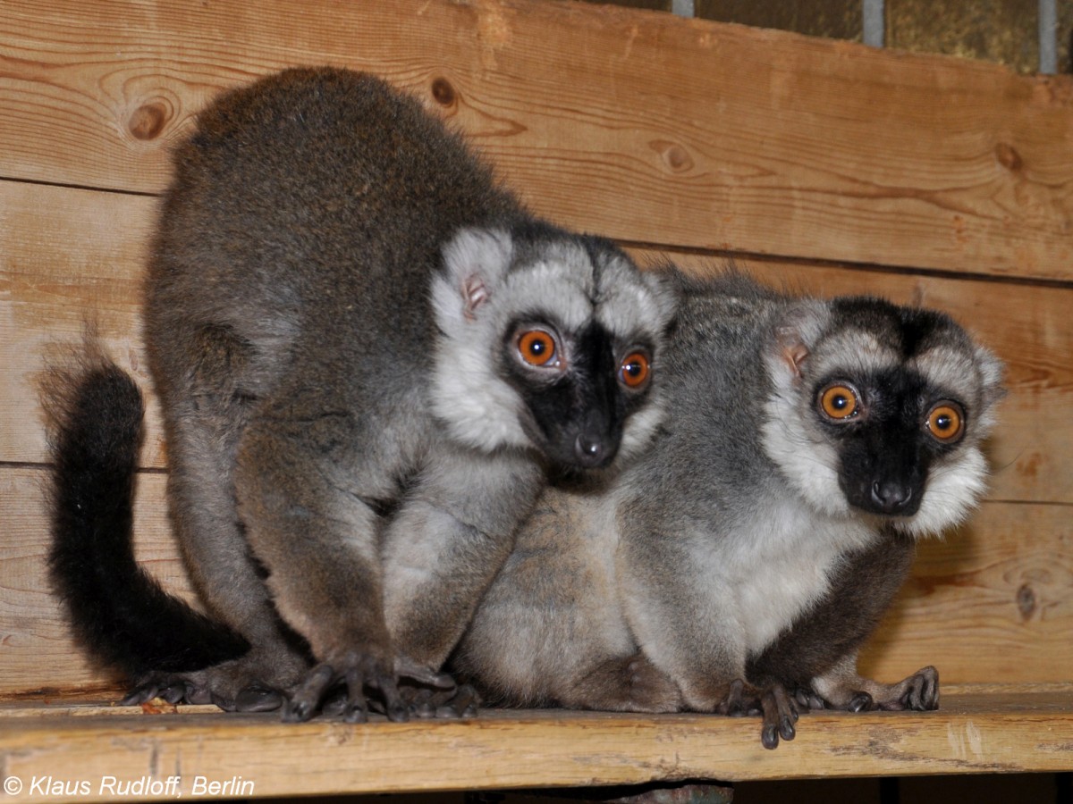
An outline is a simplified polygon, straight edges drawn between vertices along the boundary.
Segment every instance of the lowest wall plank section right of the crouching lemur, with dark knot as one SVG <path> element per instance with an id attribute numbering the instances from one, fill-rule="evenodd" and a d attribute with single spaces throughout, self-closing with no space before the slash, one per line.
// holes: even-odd
<path id="1" fill-rule="evenodd" d="M 861 672 L 897 680 L 935 665 L 941 681 L 1070 681 L 1071 540 L 1068 506 L 985 503 L 956 533 L 921 542 Z"/>

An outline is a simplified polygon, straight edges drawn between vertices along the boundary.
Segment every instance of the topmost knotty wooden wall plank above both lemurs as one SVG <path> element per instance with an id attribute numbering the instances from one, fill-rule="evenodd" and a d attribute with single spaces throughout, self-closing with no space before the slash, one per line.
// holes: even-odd
<path id="1" fill-rule="evenodd" d="M 416 91 L 561 222 L 635 242 L 1070 279 L 1073 83 L 543 0 L 9 0 L 0 176 L 156 192 L 221 88 Z M 439 99 L 439 100 L 437 100 Z"/>

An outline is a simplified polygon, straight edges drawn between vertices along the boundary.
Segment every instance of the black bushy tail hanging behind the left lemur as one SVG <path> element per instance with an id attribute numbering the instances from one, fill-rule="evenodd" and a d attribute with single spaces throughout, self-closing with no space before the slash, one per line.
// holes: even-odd
<path id="1" fill-rule="evenodd" d="M 90 343 L 77 368 L 50 370 L 43 402 L 54 462 L 52 581 L 83 646 L 132 681 L 245 653 L 240 636 L 165 592 L 134 560 L 143 418 L 134 381 Z"/>

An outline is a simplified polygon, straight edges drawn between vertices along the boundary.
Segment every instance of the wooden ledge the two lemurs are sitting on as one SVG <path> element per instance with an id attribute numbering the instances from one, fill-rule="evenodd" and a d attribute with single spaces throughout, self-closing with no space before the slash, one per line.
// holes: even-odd
<path id="1" fill-rule="evenodd" d="M 104 801 L 128 783 L 145 798 L 260 798 L 1056 772 L 1073 769 L 1073 685 L 947 685 L 938 712 L 809 713 L 774 751 L 761 747 L 756 718 L 489 711 L 465 721 L 283 725 L 210 706 L 20 701 L 0 704 L 0 769 L 21 784 L 18 802 L 55 802 L 57 785 Z"/>

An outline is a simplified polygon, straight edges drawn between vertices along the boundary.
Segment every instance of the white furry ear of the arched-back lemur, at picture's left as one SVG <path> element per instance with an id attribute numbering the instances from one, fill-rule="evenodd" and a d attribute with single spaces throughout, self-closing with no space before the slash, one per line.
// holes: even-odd
<path id="1" fill-rule="evenodd" d="M 443 247 L 445 279 L 464 318 L 474 321 L 477 309 L 495 294 L 513 251 L 510 234 L 497 228 L 459 229 Z"/>

